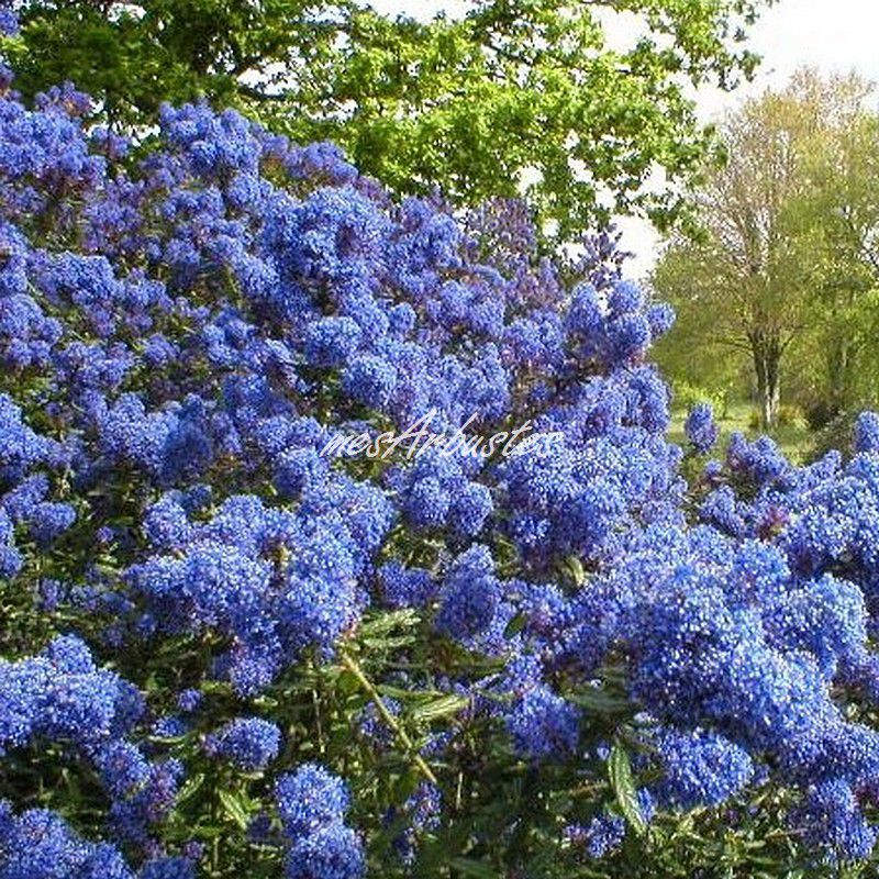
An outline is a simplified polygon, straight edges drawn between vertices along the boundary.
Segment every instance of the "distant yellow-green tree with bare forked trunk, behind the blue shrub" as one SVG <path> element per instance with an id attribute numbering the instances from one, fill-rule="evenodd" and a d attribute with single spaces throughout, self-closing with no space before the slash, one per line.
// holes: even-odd
<path id="1" fill-rule="evenodd" d="M 827 240 L 828 225 L 845 226 L 843 214 L 827 211 L 838 185 L 822 186 L 833 180 L 842 143 L 867 124 L 867 93 L 857 78 L 824 81 L 804 70 L 731 114 L 722 131 L 727 160 L 693 193 L 700 234 L 674 236 L 656 270 L 657 289 L 679 312 L 668 344 L 709 357 L 719 346 L 744 352 L 765 429 L 776 422 L 782 366 L 813 325 L 815 289 L 826 279 L 828 248 L 815 243 Z"/>

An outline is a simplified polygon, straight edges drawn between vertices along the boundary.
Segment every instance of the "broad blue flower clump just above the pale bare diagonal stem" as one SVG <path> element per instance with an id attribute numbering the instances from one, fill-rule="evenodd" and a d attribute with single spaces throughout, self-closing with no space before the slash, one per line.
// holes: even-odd
<path id="1" fill-rule="evenodd" d="M 146 513 L 155 552 L 125 571 L 145 608 L 135 631 L 232 639 L 215 671 L 242 693 L 264 689 L 302 650 L 329 652 L 357 621 L 357 586 L 393 512 L 376 489 L 327 475 L 294 512 L 233 496 L 207 522 L 166 493 Z M 146 616 L 149 625 L 144 625 Z"/>

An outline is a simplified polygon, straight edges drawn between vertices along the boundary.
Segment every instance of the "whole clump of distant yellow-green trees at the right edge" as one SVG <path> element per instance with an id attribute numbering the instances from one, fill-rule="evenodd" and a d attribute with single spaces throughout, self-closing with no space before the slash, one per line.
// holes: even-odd
<path id="1" fill-rule="evenodd" d="M 681 374 L 714 369 L 720 352 L 752 367 L 764 426 L 779 410 L 781 371 L 824 418 L 863 399 L 876 376 L 879 122 L 855 76 L 802 70 L 730 115 L 728 160 L 693 192 L 700 234 L 677 234 L 655 285 L 678 311 L 666 348 Z M 722 358 L 734 366 L 735 357 Z M 738 360 L 741 363 L 741 359 Z"/>

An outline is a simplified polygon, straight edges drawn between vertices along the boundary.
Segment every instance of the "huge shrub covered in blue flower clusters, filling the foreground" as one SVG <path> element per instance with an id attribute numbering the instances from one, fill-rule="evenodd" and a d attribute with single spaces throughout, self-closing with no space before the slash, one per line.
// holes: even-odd
<path id="1" fill-rule="evenodd" d="M 870 856 L 879 418 L 681 449 L 607 235 L 89 109 L 0 69 L 0 879 L 607 875 L 742 803 Z M 546 442 L 324 454 L 427 414 Z"/>

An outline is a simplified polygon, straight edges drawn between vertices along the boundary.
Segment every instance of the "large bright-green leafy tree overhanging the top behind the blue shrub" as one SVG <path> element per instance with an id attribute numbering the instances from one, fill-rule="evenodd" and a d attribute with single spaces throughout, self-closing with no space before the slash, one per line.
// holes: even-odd
<path id="1" fill-rule="evenodd" d="M 10 54 L 25 97 L 71 79 L 129 127 L 160 100 L 245 107 L 397 192 L 524 188 L 570 241 L 613 211 L 681 214 L 674 183 L 712 143 L 686 89 L 752 73 L 746 31 L 770 2 L 477 0 L 421 22 L 351 0 L 27 0 Z M 657 171 L 669 186 L 648 193 Z"/>

